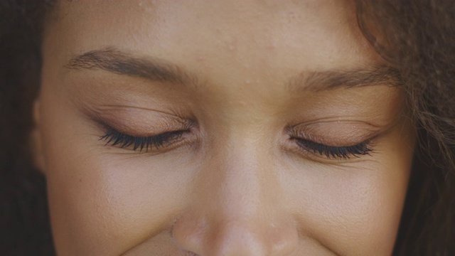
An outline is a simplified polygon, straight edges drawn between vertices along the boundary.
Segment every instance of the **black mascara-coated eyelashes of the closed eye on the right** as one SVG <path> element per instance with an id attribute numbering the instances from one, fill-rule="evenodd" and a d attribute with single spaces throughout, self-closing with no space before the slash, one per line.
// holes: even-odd
<path id="1" fill-rule="evenodd" d="M 370 141 L 365 141 L 353 146 L 327 146 L 317 142 L 311 142 L 306 139 L 293 138 L 297 145 L 305 151 L 311 151 L 313 154 L 326 156 L 328 159 L 350 159 L 351 156 L 360 157 L 370 155 L 373 149 L 370 149 Z"/>

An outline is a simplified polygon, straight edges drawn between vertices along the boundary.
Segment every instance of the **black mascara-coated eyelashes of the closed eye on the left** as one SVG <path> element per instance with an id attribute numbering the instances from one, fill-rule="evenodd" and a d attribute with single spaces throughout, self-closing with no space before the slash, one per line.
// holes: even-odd
<path id="1" fill-rule="evenodd" d="M 122 134 L 117 132 L 112 127 L 107 127 L 106 133 L 100 137 L 100 140 L 105 140 L 106 145 L 110 144 L 111 146 L 119 146 L 119 148 L 127 148 L 133 146 L 132 150 L 139 152 L 149 151 L 149 149 L 161 149 L 166 146 L 169 146 L 176 140 L 180 139 L 183 133 L 188 132 L 186 130 L 174 131 L 174 132 L 165 132 L 163 134 L 158 134 L 150 137 L 134 137 L 132 135 Z"/>

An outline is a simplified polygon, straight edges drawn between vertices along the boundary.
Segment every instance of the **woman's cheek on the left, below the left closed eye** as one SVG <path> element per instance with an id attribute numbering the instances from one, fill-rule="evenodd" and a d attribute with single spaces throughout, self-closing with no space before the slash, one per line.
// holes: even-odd
<path id="1" fill-rule="evenodd" d="M 46 101 L 41 122 L 57 250 L 119 255 L 168 229 L 185 204 L 188 159 L 104 146 L 102 131 L 59 106 Z"/>

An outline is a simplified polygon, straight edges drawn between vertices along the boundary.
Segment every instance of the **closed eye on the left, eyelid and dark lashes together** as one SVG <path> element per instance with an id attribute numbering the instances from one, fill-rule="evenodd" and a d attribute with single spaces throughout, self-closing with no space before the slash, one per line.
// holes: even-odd
<path id="1" fill-rule="evenodd" d="M 91 114 L 91 119 L 104 132 L 100 140 L 105 141 L 105 146 L 161 154 L 196 139 L 194 136 L 183 137 L 196 128 L 196 120 L 176 114 L 118 106 Z"/>

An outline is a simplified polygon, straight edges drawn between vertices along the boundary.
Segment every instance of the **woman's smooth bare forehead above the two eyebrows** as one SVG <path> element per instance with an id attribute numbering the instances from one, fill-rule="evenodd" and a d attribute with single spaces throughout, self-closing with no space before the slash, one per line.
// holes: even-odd
<path id="1" fill-rule="evenodd" d="M 62 1 L 53 16 L 47 40 L 66 60 L 114 46 L 237 75 L 375 61 L 348 1 Z"/>

